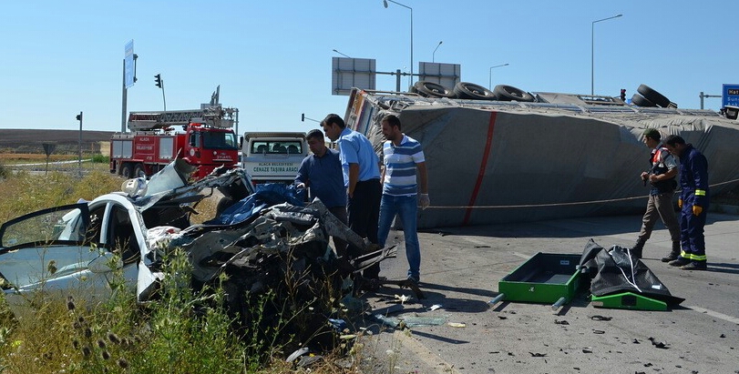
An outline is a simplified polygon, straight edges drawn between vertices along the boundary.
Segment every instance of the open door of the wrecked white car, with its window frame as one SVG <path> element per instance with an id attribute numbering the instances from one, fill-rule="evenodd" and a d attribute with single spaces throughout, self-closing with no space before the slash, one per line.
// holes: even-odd
<path id="1" fill-rule="evenodd" d="M 23 308 L 38 290 L 109 296 L 108 275 L 118 264 L 101 241 L 107 204 L 90 208 L 52 207 L 0 227 L 0 281 L 11 308 Z"/>

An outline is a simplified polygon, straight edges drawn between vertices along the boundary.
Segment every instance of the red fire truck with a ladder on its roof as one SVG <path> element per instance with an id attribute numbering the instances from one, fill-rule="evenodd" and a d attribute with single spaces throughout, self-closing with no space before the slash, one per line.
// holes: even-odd
<path id="1" fill-rule="evenodd" d="M 239 109 L 211 106 L 200 110 L 130 112 L 129 133 L 110 139 L 110 172 L 123 177 L 151 176 L 183 158 L 200 179 L 216 167 L 236 167 L 239 143 L 231 127 Z M 176 129 L 180 126 L 182 131 Z"/>

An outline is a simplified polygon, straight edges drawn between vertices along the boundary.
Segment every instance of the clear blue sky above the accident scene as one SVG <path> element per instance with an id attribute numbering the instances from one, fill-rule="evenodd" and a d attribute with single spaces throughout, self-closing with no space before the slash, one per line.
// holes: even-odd
<path id="1" fill-rule="evenodd" d="M 595 94 L 631 97 L 640 84 L 680 107 L 739 83 L 734 1 L 399 0 L 413 8 L 418 62 L 461 65 L 462 80 L 526 91 L 590 93 L 592 21 Z M 307 131 L 328 113 L 332 57 L 375 58 L 379 71 L 410 70 L 410 15 L 382 0 L 5 1 L 3 128 L 118 131 L 124 46 L 134 40 L 138 82 L 128 110 L 192 109 L 221 85 L 240 110 L 239 131 Z M 490 66 L 509 64 L 490 69 Z M 404 78 L 407 86 L 407 78 Z M 378 76 L 377 89 L 395 89 Z M 705 107 L 719 109 L 720 98 Z"/>

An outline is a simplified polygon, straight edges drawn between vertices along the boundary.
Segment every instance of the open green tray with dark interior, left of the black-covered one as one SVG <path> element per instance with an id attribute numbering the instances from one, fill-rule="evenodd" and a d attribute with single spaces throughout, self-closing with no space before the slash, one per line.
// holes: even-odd
<path id="1" fill-rule="evenodd" d="M 506 301 L 570 302 L 580 288 L 580 255 L 537 253 L 498 281 Z"/>

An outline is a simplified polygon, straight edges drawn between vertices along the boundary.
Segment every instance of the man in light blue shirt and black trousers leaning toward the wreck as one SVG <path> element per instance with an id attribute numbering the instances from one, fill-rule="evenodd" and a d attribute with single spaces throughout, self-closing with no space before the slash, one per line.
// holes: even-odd
<path id="1" fill-rule="evenodd" d="M 380 167 L 375 148 L 366 136 L 346 127 L 342 117 L 330 114 L 321 122 L 323 132 L 339 146 L 344 169 L 344 187 L 349 197 L 349 227 L 357 235 L 377 244 L 377 220 L 380 217 Z M 349 256 L 363 255 L 349 246 Z M 364 269 L 364 278 L 377 279 L 380 264 Z"/>

